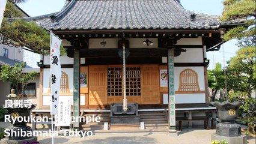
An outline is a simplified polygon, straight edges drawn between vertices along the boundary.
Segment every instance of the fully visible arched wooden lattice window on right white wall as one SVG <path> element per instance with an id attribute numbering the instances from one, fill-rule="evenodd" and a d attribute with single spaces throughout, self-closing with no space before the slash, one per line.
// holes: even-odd
<path id="1" fill-rule="evenodd" d="M 202 92 L 198 85 L 198 76 L 194 70 L 187 68 L 180 73 L 178 92 Z"/>

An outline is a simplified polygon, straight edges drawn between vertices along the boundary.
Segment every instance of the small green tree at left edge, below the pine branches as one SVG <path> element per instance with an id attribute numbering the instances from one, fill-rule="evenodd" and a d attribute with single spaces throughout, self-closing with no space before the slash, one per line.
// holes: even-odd
<path id="1" fill-rule="evenodd" d="M 33 80 L 37 74 L 35 71 L 23 73 L 23 68 L 26 67 L 25 62 L 20 65 L 16 63 L 13 67 L 10 65 L 2 65 L 0 71 L 0 80 L 10 82 L 11 86 L 17 90 L 17 94 L 23 94 L 29 80 Z"/>

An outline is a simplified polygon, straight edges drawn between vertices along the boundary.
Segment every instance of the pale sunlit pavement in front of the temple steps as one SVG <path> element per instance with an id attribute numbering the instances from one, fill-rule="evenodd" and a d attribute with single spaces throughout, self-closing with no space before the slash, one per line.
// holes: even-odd
<path id="1" fill-rule="evenodd" d="M 8 127 L 10 123 L 0 122 L 0 127 Z M 40 125 L 38 125 L 40 128 Z M 49 130 L 49 128 L 41 128 L 40 130 Z M 211 134 L 215 133 L 215 130 L 204 130 L 203 128 L 184 128 L 179 132 L 177 137 L 169 137 L 167 133 L 132 133 L 132 134 L 95 134 L 91 137 L 55 137 L 54 143 L 95 143 L 95 144 L 210 144 Z M 247 137 L 248 144 L 255 144 L 254 137 Z M 52 143 L 52 137 L 38 137 L 40 144 Z"/>

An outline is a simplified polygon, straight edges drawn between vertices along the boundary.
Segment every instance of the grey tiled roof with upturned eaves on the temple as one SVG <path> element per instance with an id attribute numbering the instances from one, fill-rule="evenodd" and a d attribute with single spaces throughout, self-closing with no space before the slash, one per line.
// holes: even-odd
<path id="1" fill-rule="evenodd" d="M 67 0 L 59 13 L 25 19 L 53 30 L 216 29 L 232 24 L 185 10 L 178 0 Z"/>

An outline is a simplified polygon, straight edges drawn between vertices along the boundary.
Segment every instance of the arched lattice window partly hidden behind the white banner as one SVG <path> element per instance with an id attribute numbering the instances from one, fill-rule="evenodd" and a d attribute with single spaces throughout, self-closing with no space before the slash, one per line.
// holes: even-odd
<path id="1" fill-rule="evenodd" d="M 48 93 L 50 93 L 50 79 L 49 79 L 49 89 Z M 70 93 L 69 90 L 69 75 L 65 73 L 64 71 L 61 71 L 61 94 Z"/>

